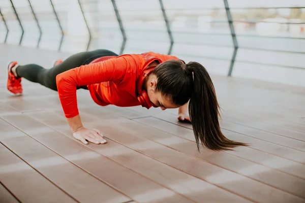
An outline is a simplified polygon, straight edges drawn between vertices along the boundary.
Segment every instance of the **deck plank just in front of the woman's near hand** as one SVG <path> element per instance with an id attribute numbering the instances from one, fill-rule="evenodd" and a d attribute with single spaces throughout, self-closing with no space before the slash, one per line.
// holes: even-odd
<path id="1" fill-rule="evenodd" d="M 88 151 L 82 144 L 32 118 L 18 113 L 1 117 L 60 156 L 136 201 L 192 202 L 94 151 Z"/>

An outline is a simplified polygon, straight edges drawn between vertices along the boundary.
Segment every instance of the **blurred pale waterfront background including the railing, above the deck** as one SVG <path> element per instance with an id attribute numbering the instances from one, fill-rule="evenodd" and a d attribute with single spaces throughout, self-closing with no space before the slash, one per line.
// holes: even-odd
<path id="1" fill-rule="evenodd" d="M 0 0 L 0 43 L 154 51 L 209 73 L 305 86 L 304 0 Z"/>

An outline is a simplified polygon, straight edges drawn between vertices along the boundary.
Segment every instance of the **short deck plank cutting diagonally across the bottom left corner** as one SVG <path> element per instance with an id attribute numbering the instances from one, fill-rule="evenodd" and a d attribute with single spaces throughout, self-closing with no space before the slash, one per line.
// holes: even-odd
<path id="1" fill-rule="evenodd" d="M 21 202 L 76 202 L 0 144 L 0 180 Z"/>

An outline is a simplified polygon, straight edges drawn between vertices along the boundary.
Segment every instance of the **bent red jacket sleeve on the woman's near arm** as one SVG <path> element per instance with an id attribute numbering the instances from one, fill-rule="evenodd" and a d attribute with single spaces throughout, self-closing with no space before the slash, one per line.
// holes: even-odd
<path id="1" fill-rule="evenodd" d="M 136 65 L 130 55 L 111 58 L 105 61 L 81 65 L 56 76 L 60 103 L 67 118 L 79 114 L 76 88 L 106 81 L 119 83 L 124 79 L 128 67 Z"/>

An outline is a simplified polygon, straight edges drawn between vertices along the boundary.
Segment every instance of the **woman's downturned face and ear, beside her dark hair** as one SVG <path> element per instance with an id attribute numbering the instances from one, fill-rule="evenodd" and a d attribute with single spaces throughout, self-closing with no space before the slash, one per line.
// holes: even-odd
<path id="1" fill-rule="evenodd" d="M 147 81 L 147 94 L 149 100 L 157 107 L 160 107 L 162 110 L 165 109 L 175 109 L 180 106 L 173 104 L 168 97 L 165 97 L 161 92 L 156 92 L 155 88 L 157 85 L 157 77 L 152 75 Z"/>

